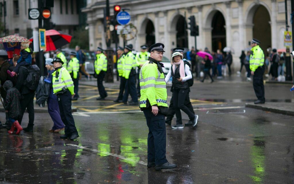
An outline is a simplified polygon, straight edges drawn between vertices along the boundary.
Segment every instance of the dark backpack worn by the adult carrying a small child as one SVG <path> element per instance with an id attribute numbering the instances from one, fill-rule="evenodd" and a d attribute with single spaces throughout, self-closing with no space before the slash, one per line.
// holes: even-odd
<path id="1" fill-rule="evenodd" d="M 22 66 L 22 68 L 25 68 L 28 70 L 28 75 L 26 76 L 26 79 L 24 80 L 24 86 L 26 86 L 30 90 L 35 91 L 39 85 L 39 80 L 41 76 L 40 68 L 36 64 L 33 64 L 29 67 Z"/>

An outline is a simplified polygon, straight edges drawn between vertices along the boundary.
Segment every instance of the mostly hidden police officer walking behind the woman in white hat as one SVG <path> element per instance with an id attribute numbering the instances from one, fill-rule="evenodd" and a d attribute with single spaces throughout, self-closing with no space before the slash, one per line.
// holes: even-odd
<path id="1" fill-rule="evenodd" d="M 175 52 L 180 52 L 181 54 L 184 54 L 184 48 L 176 47 L 176 48 L 173 49 L 173 53 L 175 53 Z M 185 64 L 188 64 L 188 66 L 191 66 L 187 59 L 183 58 L 183 61 L 184 61 Z M 173 87 L 171 87 L 171 92 L 173 92 Z M 189 89 L 189 92 L 190 92 L 190 89 Z M 190 101 L 189 93 L 186 95 L 184 105 L 187 106 L 188 109 L 192 113 L 195 114 L 195 112 L 193 110 L 193 106 L 192 106 L 191 101 Z M 176 110 L 175 110 L 175 108 L 173 106 L 173 96 L 172 96 L 170 105 L 168 107 L 168 115 L 166 117 L 166 124 L 171 125 L 171 121 L 173 120 L 173 116 L 175 115 L 175 113 L 176 113 Z M 195 123 L 193 123 L 193 120 L 189 120 L 187 123 L 185 123 L 185 126 L 190 126 L 190 125 L 194 125 L 194 124 Z"/>

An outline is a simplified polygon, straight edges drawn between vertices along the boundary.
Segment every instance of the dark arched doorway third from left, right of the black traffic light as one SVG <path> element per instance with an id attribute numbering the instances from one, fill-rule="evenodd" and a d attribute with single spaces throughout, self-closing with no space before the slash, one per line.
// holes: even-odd
<path id="1" fill-rule="evenodd" d="M 225 37 L 225 18 L 220 11 L 217 11 L 212 19 L 211 27 L 211 39 L 212 39 L 212 50 L 216 52 L 217 49 L 221 51 L 226 46 Z"/>

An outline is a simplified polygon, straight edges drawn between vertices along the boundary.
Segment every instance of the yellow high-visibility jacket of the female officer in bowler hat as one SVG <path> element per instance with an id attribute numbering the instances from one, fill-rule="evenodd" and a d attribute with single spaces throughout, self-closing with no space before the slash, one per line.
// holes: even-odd
<path id="1" fill-rule="evenodd" d="M 52 75 L 52 87 L 53 93 L 57 93 L 62 90 L 63 87 L 69 89 L 71 95 L 74 95 L 74 82 L 71 79 L 71 75 L 69 71 L 67 71 L 64 67 L 59 68 L 58 76 L 56 77 L 56 71 L 53 72 Z"/>

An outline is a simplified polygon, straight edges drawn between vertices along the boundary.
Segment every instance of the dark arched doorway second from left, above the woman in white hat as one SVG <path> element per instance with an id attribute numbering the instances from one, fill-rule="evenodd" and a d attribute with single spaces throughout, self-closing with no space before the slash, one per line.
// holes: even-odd
<path id="1" fill-rule="evenodd" d="M 187 24 L 183 16 L 180 16 L 176 25 L 177 29 L 177 47 L 188 48 Z"/>

